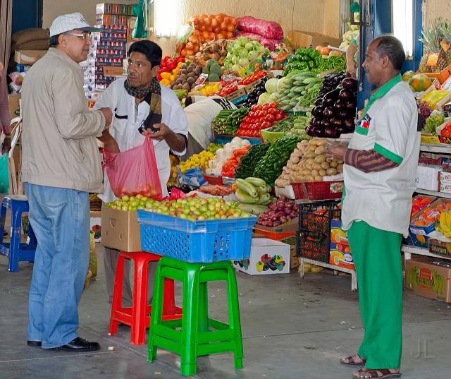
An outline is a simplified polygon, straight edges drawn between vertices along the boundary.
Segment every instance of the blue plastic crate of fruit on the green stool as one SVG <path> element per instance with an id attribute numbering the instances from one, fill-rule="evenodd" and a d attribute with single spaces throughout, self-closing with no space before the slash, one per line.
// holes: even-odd
<path id="1" fill-rule="evenodd" d="M 257 217 L 189 221 L 138 210 L 143 251 L 188 263 L 247 259 Z"/>

